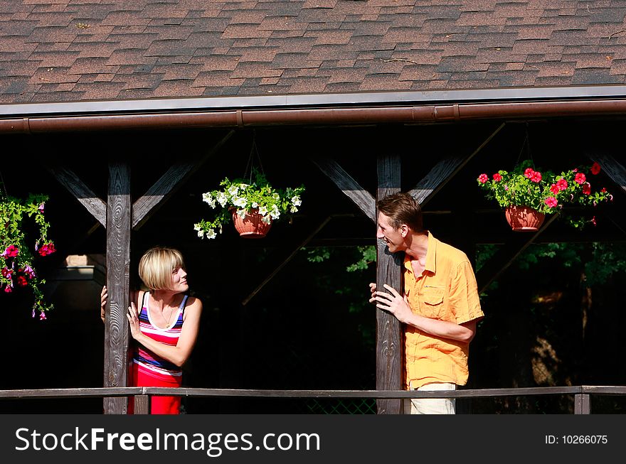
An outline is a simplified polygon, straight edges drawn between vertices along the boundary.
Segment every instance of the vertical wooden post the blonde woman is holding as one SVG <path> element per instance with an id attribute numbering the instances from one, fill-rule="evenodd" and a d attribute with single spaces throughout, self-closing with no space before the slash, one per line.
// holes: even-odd
<path id="1" fill-rule="evenodd" d="M 126 387 L 128 367 L 130 169 L 126 163 L 109 164 L 107 198 L 107 291 L 105 323 L 105 387 Z M 104 400 L 105 414 L 126 414 L 126 398 Z"/>

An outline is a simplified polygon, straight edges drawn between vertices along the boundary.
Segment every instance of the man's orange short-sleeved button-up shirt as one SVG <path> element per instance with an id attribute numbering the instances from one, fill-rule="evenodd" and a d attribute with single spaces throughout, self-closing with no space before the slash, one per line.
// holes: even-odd
<path id="1" fill-rule="evenodd" d="M 476 276 L 467 255 L 428 232 L 425 269 L 415 276 L 405 255 L 404 291 L 411 311 L 426 318 L 462 324 L 484 317 Z M 405 326 L 406 387 L 431 382 L 465 385 L 470 344 Z"/>

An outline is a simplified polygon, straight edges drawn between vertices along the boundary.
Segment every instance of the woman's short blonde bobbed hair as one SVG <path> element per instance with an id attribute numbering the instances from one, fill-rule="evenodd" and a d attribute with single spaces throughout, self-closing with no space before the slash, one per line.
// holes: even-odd
<path id="1" fill-rule="evenodd" d="M 150 290 L 171 290 L 171 274 L 179 267 L 185 269 L 183 255 L 179 250 L 152 247 L 139 259 L 139 279 Z"/>

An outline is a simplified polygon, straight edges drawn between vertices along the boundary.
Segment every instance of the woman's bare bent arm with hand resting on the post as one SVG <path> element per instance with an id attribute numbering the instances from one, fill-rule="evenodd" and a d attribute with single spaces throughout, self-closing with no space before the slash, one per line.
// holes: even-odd
<path id="1" fill-rule="evenodd" d="M 141 293 L 139 292 L 141 297 Z M 189 359 L 193 347 L 196 345 L 198 331 L 200 328 L 200 315 L 202 313 L 202 302 L 198 298 L 190 296 L 189 304 L 185 307 L 183 328 L 176 346 L 164 345 L 163 343 L 152 340 L 139 330 L 139 316 L 137 306 L 134 302 L 128 307 L 127 318 L 130 324 L 130 333 L 132 338 L 141 343 L 148 350 L 154 352 L 155 355 L 163 357 L 169 362 L 181 367 Z M 139 301 L 137 302 L 139 303 Z"/>

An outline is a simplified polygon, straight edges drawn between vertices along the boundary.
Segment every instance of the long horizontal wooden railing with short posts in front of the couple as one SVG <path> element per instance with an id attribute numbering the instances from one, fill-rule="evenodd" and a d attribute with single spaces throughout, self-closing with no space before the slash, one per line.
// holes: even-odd
<path id="1" fill-rule="evenodd" d="M 262 398 L 479 398 L 500 396 L 573 395 L 574 414 L 591 414 L 590 397 L 593 395 L 624 395 L 626 387 L 593 386 L 578 387 L 528 387 L 500 389 L 461 389 L 447 392 L 417 392 L 396 390 L 258 390 L 258 389 L 210 389 L 210 388 L 164 388 L 164 387 L 102 387 L 66 389 L 0 390 L 0 399 L 71 399 L 109 398 L 134 396 L 135 413 L 149 414 L 149 398 L 157 396 L 196 397 L 262 397 Z"/>

